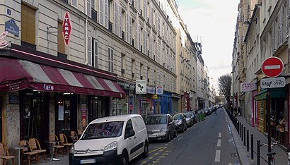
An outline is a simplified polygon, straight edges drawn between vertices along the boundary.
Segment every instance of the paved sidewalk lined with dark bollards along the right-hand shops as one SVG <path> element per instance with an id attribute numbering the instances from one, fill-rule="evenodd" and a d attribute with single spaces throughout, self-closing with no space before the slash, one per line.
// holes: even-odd
<path id="1" fill-rule="evenodd" d="M 260 140 L 260 144 L 262 143 L 266 143 L 268 142 L 267 140 L 267 135 L 264 135 L 263 133 L 261 133 L 259 130 L 257 130 L 257 128 L 250 126 L 249 123 L 247 123 L 247 121 L 245 121 L 245 118 L 241 117 L 241 116 L 237 116 L 236 118 L 238 119 L 238 121 L 240 121 L 240 123 L 243 124 L 243 127 L 245 127 L 245 130 L 249 130 L 249 140 L 250 140 L 250 135 L 253 134 L 253 143 L 254 143 L 254 159 L 250 159 L 251 155 L 250 155 L 250 150 L 249 152 L 247 152 L 247 147 L 243 145 L 243 141 L 241 140 L 242 138 L 240 138 L 240 135 L 238 134 L 235 126 L 233 126 L 233 122 L 231 121 L 231 119 L 229 118 L 228 114 L 226 113 L 227 117 L 228 117 L 228 122 L 230 123 L 231 126 L 231 131 L 233 133 L 233 139 L 236 143 L 236 148 L 237 148 L 237 152 L 238 155 L 240 157 L 240 162 L 241 164 L 257 164 L 257 140 Z M 246 137 L 247 138 L 247 137 Z M 247 144 L 246 144 L 247 145 Z M 250 145 L 250 142 L 249 142 Z M 268 152 L 268 147 L 265 145 L 262 145 L 260 147 L 260 164 L 261 165 L 267 165 L 267 152 Z M 277 154 L 275 155 L 275 162 L 276 164 L 279 165 L 287 165 L 287 153 L 284 151 L 284 149 L 282 149 L 282 147 L 280 145 L 277 145 L 274 148 L 274 152 L 276 152 Z M 265 161 L 265 160 L 266 161 Z"/>

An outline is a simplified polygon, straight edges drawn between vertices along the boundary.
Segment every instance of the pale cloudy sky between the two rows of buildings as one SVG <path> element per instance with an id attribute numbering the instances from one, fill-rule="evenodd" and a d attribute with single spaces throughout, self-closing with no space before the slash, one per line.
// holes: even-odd
<path id="1" fill-rule="evenodd" d="M 239 0 L 175 0 L 193 41 L 200 37 L 202 58 L 216 82 L 231 73 Z"/>

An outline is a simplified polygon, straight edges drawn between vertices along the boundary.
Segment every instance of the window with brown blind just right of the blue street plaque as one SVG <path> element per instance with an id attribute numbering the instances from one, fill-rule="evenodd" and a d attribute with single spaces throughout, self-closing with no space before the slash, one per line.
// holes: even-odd
<path id="1" fill-rule="evenodd" d="M 35 10 L 21 4 L 21 41 L 35 45 Z"/>

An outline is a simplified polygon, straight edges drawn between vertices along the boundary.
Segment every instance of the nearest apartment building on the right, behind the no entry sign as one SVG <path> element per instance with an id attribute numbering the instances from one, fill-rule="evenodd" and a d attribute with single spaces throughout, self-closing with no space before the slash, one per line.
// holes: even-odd
<path id="1" fill-rule="evenodd" d="M 246 82 L 255 85 L 245 92 L 247 120 L 261 132 L 269 131 L 271 138 L 284 147 L 289 144 L 289 10 L 289 1 L 257 1 L 248 22 L 245 22 L 248 29 L 244 39 Z M 286 85 L 269 90 L 271 127 L 267 128 L 267 89 L 261 87 L 260 81 L 266 78 L 261 70 L 262 63 L 271 56 L 284 63 L 280 77 L 286 79 Z"/>

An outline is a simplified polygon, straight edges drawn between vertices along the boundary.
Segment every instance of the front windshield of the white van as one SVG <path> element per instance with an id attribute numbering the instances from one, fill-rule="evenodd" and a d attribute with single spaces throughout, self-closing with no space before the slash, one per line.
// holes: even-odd
<path id="1" fill-rule="evenodd" d="M 81 140 L 115 138 L 122 135 L 124 121 L 94 123 L 88 125 Z"/>

